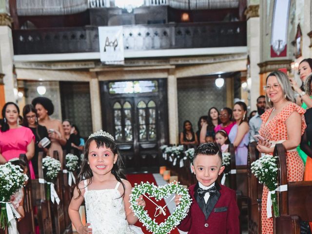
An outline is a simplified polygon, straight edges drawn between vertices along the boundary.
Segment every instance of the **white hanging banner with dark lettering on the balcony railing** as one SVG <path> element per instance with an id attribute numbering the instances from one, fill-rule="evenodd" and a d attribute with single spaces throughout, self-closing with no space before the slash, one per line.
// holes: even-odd
<path id="1" fill-rule="evenodd" d="M 100 59 L 105 64 L 124 64 L 122 26 L 98 27 Z"/>

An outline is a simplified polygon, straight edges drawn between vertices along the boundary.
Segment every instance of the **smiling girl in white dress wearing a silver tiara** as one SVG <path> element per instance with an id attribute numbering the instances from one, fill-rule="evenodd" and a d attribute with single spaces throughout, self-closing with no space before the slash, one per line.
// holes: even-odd
<path id="1" fill-rule="evenodd" d="M 68 208 L 70 219 L 79 234 L 143 234 L 140 228 L 130 226 L 137 222 L 137 217 L 130 209 L 132 187 L 124 179 L 122 166 L 114 137 L 102 130 L 89 136 Z M 83 200 L 87 213 L 85 226 L 78 212 Z M 145 207 L 142 195 L 137 202 Z"/>

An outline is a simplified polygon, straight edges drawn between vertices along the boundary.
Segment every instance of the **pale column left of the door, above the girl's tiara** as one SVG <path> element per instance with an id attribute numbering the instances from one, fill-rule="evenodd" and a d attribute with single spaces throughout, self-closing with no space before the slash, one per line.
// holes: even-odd
<path id="1" fill-rule="evenodd" d="M 97 132 L 102 129 L 102 115 L 98 78 L 94 76 L 90 80 L 90 99 L 93 132 Z"/>

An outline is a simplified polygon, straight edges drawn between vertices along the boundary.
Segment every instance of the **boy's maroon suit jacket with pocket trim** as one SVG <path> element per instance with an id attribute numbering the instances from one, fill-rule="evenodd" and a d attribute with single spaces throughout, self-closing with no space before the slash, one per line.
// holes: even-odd
<path id="1" fill-rule="evenodd" d="M 219 184 L 216 184 L 216 187 L 219 192 L 219 197 L 216 198 L 217 200 L 215 199 L 216 203 L 213 202 L 210 209 L 211 213 L 207 219 L 196 201 L 197 194 L 195 195 L 195 191 L 198 188 L 198 183 L 189 187 L 189 194 L 191 195 L 193 202 L 188 215 L 177 226 L 178 229 L 188 232 L 188 234 L 240 233 L 238 218 L 239 210 L 237 207 L 235 191 Z M 204 203 L 201 205 L 204 205 Z"/>

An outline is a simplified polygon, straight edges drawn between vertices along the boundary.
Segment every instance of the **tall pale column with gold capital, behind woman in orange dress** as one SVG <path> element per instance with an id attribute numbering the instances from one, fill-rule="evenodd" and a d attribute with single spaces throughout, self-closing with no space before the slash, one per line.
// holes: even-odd
<path id="1" fill-rule="evenodd" d="M 260 17 L 259 14 L 256 14 L 255 12 L 255 9 L 257 8 L 256 5 L 249 6 L 248 8 L 251 13 L 253 13 L 249 15 L 250 17 L 247 20 L 247 49 L 250 59 L 251 77 L 250 106 L 251 109 L 254 110 L 256 108 L 256 99 L 260 95 L 260 68 L 257 65 L 260 62 Z"/>

